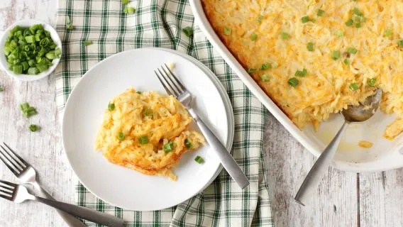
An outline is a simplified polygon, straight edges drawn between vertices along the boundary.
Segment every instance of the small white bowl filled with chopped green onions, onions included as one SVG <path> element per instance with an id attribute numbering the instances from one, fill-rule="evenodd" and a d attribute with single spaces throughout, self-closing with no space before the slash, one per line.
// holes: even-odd
<path id="1" fill-rule="evenodd" d="M 22 20 L 4 31 L 0 65 L 11 77 L 33 81 L 55 70 L 62 55 L 62 42 L 48 23 Z"/>

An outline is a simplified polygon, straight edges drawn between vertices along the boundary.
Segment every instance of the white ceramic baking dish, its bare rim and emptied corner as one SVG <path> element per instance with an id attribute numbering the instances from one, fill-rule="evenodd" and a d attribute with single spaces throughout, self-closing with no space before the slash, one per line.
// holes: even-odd
<path id="1" fill-rule="evenodd" d="M 200 0 L 190 0 L 194 13 L 195 23 L 209 39 L 211 45 L 223 57 L 231 69 L 245 83 L 250 91 L 266 106 L 270 113 L 282 123 L 285 128 L 304 145 L 309 152 L 319 156 L 331 141 L 343 123 L 339 114 L 334 114 L 328 121 L 321 123 L 319 131 L 315 132 L 312 126 L 307 126 L 303 131 L 277 107 L 258 84 L 249 76 L 241 64 L 228 51 L 214 32 L 204 14 Z M 351 124 L 341 140 L 333 165 L 341 170 L 353 172 L 375 172 L 403 167 L 403 136 L 395 140 L 386 140 L 382 137 L 385 127 L 394 120 L 394 116 L 377 111 L 375 116 L 365 123 Z M 374 145 L 372 148 L 360 148 L 360 140 L 368 140 Z"/>

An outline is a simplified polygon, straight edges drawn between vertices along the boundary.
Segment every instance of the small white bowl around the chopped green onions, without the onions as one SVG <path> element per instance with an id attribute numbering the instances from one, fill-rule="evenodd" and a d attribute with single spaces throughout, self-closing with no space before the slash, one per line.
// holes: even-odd
<path id="1" fill-rule="evenodd" d="M 33 20 L 33 19 L 17 21 L 16 23 L 13 23 L 13 25 L 9 26 L 9 28 L 7 28 L 6 31 L 4 31 L 3 35 L 0 38 L 0 50 L 4 49 L 4 45 L 6 44 L 7 37 L 9 37 L 10 30 L 13 29 L 15 26 L 21 26 L 23 28 L 26 28 L 26 27 L 33 26 L 37 23 L 42 24 L 45 31 L 50 32 L 50 37 L 52 38 L 53 42 L 57 45 L 57 48 L 60 48 L 60 50 L 63 51 L 62 50 L 62 40 L 60 40 L 59 35 L 57 35 L 55 28 L 50 26 L 48 23 L 45 23 L 43 21 Z M 9 74 L 11 77 L 14 77 L 16 79 L 20 79 L 23 81 L 33 81 L 33 80 L 42 79 L 44 77 L 47 77 L 49 74 L 51 74 L 53 72 L 53 70 L 55 70 L 55 68 L 57 67 L 57 64 L 59 64 L 59 62 L 60 62 L 60 58 L 54 59 L 52 61 L 53 65 L 51 67 L 49 67 L 48 70 L 46 70 L 45 72 L 36 74 L 36 75 L 14 74 L 12 71 L 9 70 L 9 65 L 7 64 L 6 55 L 4 55 L 3 51 L 0 52 L 0 65 L 3 68 L 3 70 L 6 71 L 7 74 Z"/>

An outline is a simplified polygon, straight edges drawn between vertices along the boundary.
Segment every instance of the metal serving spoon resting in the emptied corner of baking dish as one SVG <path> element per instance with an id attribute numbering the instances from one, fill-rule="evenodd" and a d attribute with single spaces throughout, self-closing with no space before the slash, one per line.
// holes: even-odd
<path id="1" fill-rule="evenodd" d="M 314 194 L 319 182 L 326 174 L 347 126 L 350 123 L 359 123 L 371 118 L 379 107 L 381 97 L 382 89 L 377 89 L 375 94 L 368 96 L 359 106 L 348 106 L 346 110 L 341 112 L 344 116 L 343 126 L 341 126 L 336 136 L 331 140 L 324 152 L 321 153 L 307 177 L 305 177 L 304 182 L 301 187 L 299 187 L 297 195 L 294 198 L 295 201 L 303 206 L 309 202 L 311 195 Z"/>

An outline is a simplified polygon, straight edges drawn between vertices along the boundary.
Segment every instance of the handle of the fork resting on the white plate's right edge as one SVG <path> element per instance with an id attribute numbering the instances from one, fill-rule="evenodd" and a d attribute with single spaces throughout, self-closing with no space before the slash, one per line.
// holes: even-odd
<path id="1" fill-rule="evenodd" d="M 246 186 L 248 186 L 248 178 L 242 172 L 241 167 L 239 167 L 226 147 L 224 147 L 224 145 L 221 143 L 219 138 L 217 138 L 210 128 L 206 126 L 206 123 L 199 118 L 193 109 L 189 109 L 189 114 L 192 115 L 194 121 L 196 121 L 207 142 L 209 142 L 211 148 L 213 148 L 213 150 L 216 152 L 216 155 L 219 156 L 221 164 L 232 177 L 232 179 L 238 184 L 239 187 L 241 187 L 241 189 L 244 189 Z"/>

